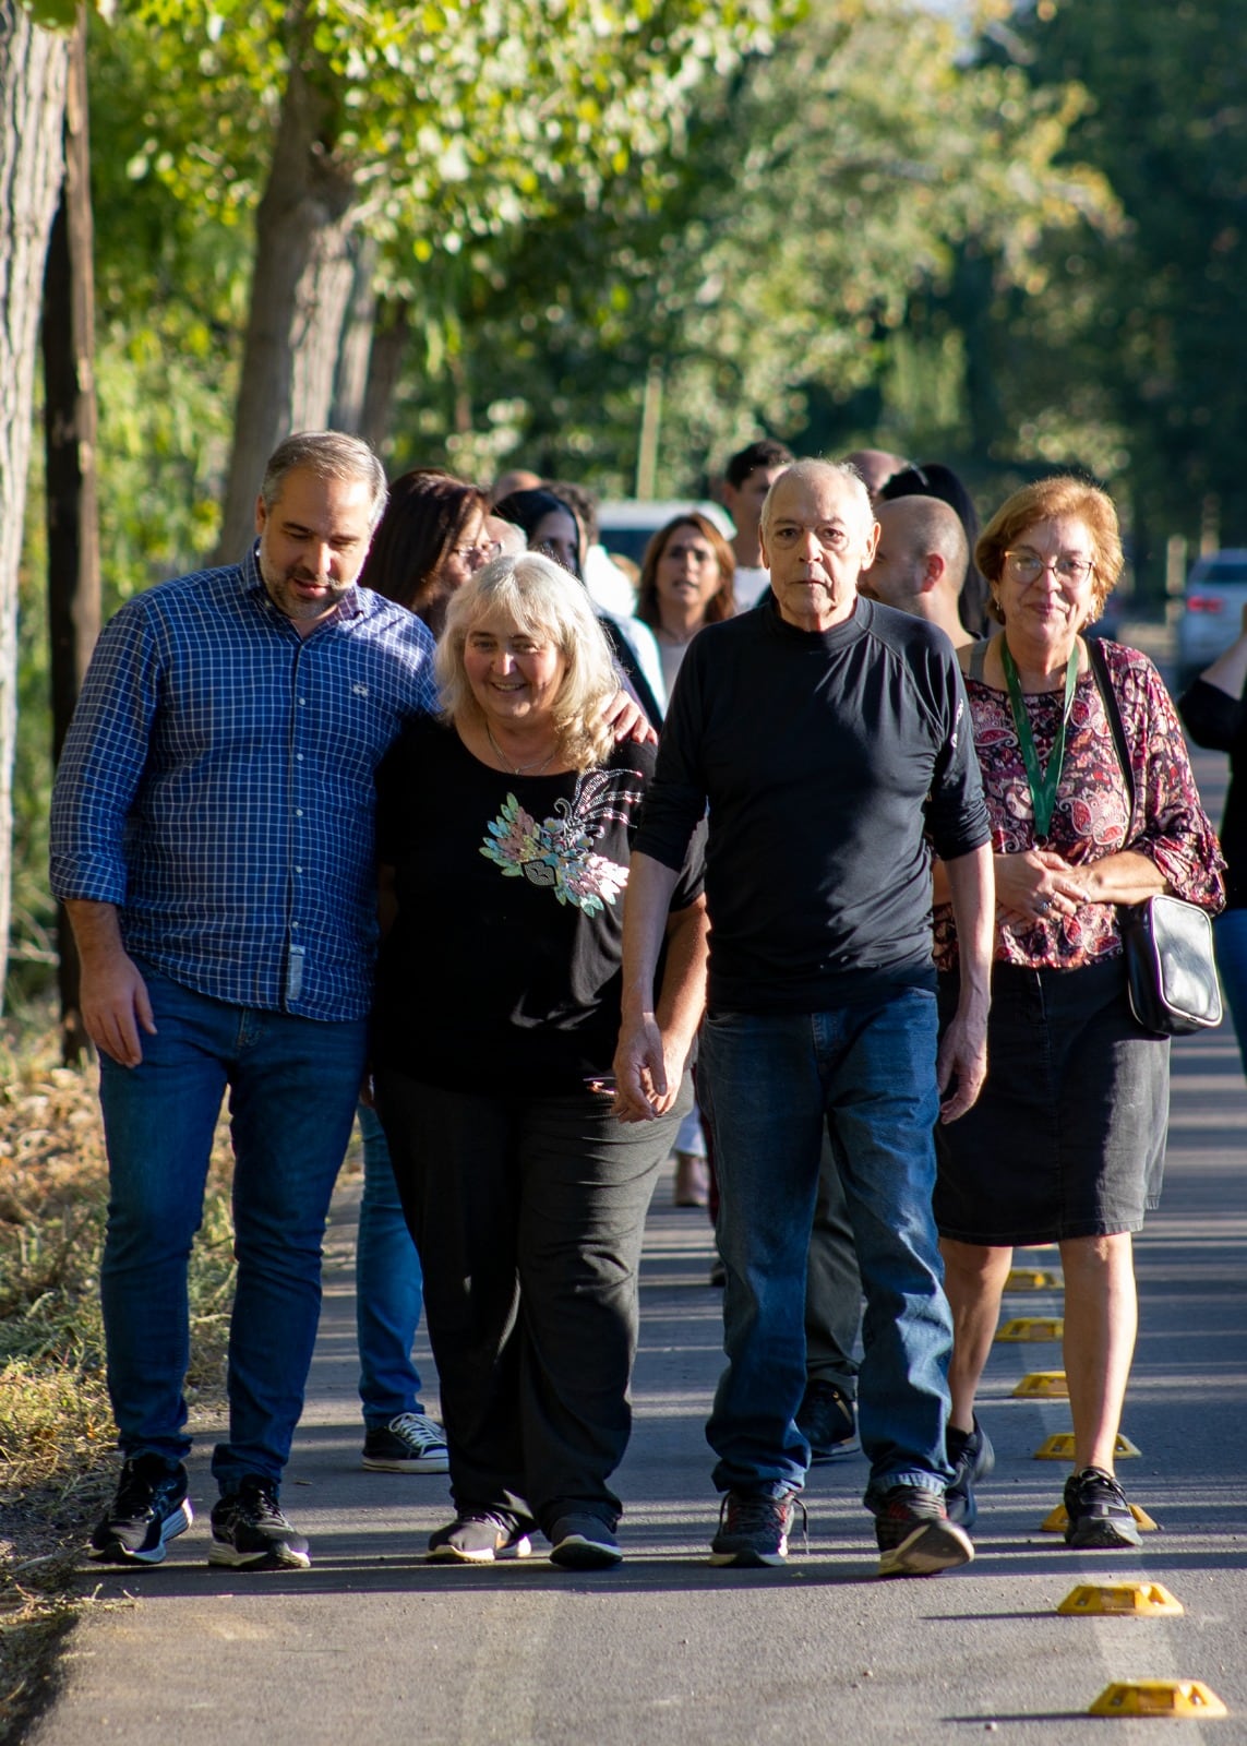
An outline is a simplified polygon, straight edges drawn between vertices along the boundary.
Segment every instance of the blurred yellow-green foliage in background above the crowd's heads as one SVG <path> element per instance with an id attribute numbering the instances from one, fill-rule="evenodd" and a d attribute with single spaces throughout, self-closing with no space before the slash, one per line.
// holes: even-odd
<path id="1" fill-rule="evenodd" d="M 435 436 L 466 470 L 513 456 L 629 489 L 651 360 L 660 491 L 704 487 L 758 428 L 968 450 L 975 358 L 948 307 L 966 250 L 1029 300 L 1050 234 L 1113 223 L 1104 178 L 1057 162 L 1083 105 L 975 61 L 917 0 L 812 9 L 702 86 L 681 140 L 596 213 L 568 197 L 428 262 L 412 293 L 444 347 L 423 337 L 395 459 Z"/>

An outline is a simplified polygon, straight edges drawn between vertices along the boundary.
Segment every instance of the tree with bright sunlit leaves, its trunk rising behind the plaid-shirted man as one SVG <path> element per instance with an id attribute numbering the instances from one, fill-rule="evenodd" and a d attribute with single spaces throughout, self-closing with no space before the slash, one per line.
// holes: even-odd
<path id="1" fill-rule="evenodd" d="M 147 52 L 173 73 L 152 80 L 168 100 L 162 113 L 152 100 L 154 171 L 234 217 L 253 203 L 257 218 L 218 555 L 250 533 L 272 442 L 328 417 L 355 230 L 403 237 L 419 257 L 430 237 L 461 248 L 515 227 L 568 187 L 592 204 L 685 129 L 704 75 L 765 47 L 796 10 L 800 0 L 136 0 Z"/>

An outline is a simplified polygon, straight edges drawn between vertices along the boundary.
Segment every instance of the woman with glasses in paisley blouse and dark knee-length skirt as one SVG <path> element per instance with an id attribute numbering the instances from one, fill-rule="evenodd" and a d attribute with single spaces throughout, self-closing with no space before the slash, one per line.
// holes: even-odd
<path id="1" fill-rule="evenodd" d="M 1102 643 L 1133 777 L 1118 763 L 1081 632 L 1121 573 L 1111 499 L 1071 477 L 1015 492 L 975 552 L 1002 625 L 962 650 L 996 845 L 997 934 L 987 1084 L 938 1130 L 934 1210 L 954 1311 L 948 1514 L 975 1519 L 992 1447 L 975 1390 L 1015 1243 L 1058 1243 L 1074 1421 L 1065 1484 L 1074 1547 L 1137 1545 L 1114 1477 L 1133 1355 L 1132 1231 L 1156 1206 L 1168 1121 L 1168 1039 L 1132 1018 L 1118 908 L 1174 892 L 1216 911 L 1221 852 L 1165 686 L 1135 650 Z M 941 1000 L 957 939 L 936 870 Z"/>

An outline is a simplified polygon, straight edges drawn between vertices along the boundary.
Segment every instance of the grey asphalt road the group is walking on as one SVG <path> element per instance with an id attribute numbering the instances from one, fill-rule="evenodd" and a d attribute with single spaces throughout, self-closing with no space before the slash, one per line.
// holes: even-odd
<path id="1" fill-rule="evenodd" d="M 1200 761 L 1212 800 L 1214 760 Z M 70 1639 L 65 1687 L 37 1746 L 784 1746 L 943 1743 L 985 1732 L 1018 1746 L 1154 1741 L 1151 1720 L 1090 1718 L 1116 1680 L 1198 1680 L 1224 1720 L 1184 1739 L 1247 1743 L 1247 1091 L 1233 1035 L 1174 1051 L 1161 1210 L 1139 1238 L 1140 1339 L 1121 1463 L 1160 1524 L 1139 1552 L 1072 1554 L 1039 1529 L 1067 1467 L 1036 1460 L 1069 1426 L 1062 1400 L 1015 1399 L 1055 1343 L 997 1344 L 983 1421 L 997 1468 L 980 1488 L 976 1561 L 940 1578 L 878 1582 L 861 1456 L 816 1468 L 809 1543 L 777 1571 L 706 1563 L 716 1521 L 702 1426 L 720 1371 L 709 1227 L 655 1198 L 643 1271 L 636 1430 L 620 1472 L 625 1563 L 569 1575 L 543 1557 L 428 1566 L 449 1519 L 445 1481 L 358 1465 L 344 1186 L 330 1233 L 325 1318 L 283 1502 L 313 1542 L 302 1575 L 206 1564 L 208 1447 L 192 1468 L 196 1526 L 141 1577 L 89 1568 L 101 1605 Z M 1034 1257 L 1053 1266 L 1055 1254 Z M 1058 1313 L 1058 1296 L 1006 1315 Z M 431 1374 L 431 1364 L 428 1365 Z M 1058 1617 L 1078 1584 L 1163 1584 L 1181 1617 Z M 1163 1732 L 1163 1730 L 1161 1730 Z"/>

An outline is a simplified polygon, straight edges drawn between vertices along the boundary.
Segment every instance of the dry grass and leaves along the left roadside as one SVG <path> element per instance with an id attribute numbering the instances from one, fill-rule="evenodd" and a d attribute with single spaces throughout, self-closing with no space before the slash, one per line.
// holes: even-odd
<path id="1" fill-rule="evenodd" d="M 56 1065 L 54 1034 L 0 1042 L 0 1743 L 47 1701 L 82 1606 L 86 1529 L 115 1481 L 100 1247 L 107 1166 L 96 1070 Z M 213 1151 L 192 1264 L 199 1409 L 220 1400 L 234 1285 L 229 1138 Z"/>

